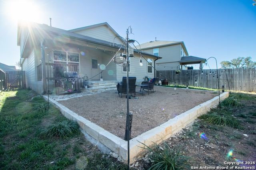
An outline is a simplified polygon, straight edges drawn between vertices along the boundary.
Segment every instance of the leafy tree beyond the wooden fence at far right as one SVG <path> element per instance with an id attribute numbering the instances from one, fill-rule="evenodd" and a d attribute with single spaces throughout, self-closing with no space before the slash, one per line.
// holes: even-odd
<path id="1" fill-rule="evenodd" d="M 222 68 L 255 68 L 256 62 L 252 61 L 252 57 L 238 57 L 231 61 L 222 61 L 220 65 Z"/>

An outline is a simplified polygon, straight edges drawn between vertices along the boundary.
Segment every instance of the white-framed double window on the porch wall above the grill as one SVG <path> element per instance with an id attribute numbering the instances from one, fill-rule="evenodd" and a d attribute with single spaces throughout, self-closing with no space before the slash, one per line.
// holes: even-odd
<path id="1" fill-rule="evenodd" d="M 70 64 L 66 66 L 67 71 L 77 72 L 79 70 L 79 53 L 55 50 L 53 52 L 53 61 L 63 65 Z"/>

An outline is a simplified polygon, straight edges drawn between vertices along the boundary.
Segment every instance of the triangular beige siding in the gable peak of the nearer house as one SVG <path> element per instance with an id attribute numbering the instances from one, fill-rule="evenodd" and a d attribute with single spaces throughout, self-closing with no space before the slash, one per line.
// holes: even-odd
<path id="1" fill-rule="evenodd" d="M 117 35 L 109 29 L 106 25 L 101 25 L 98 27 L 88 28 L 81 31 L 75 31 L 74 33 L 80 34 L 80 35 L 86 35 L 88 37 L 93 37 L 96 39 L 101 39 L 108 42 L 113 42 L 114 37 Z M 123 41 L 120 41 L 119 38 L 115 39 L 115 43 L 122 44 Z"/>

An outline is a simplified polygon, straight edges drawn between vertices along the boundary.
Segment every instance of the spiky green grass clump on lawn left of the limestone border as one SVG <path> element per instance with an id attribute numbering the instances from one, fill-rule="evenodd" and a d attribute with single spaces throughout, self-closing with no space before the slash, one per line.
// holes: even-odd
<path id="1" fill-rule="evenodd" d="M 60 137 L 68 138 L 78 133 L 79 125 L 75 121 L 64 120 L 41 129 L 42 138 Z"/>

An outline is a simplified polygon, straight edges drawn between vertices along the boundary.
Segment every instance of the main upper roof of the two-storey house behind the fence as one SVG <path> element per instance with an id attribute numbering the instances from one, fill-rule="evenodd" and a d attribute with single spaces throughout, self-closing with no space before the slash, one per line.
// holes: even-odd
<path id="1" fill-rule="evenodd" d="M 158 48 L 158 47 L 164 47 L 167 45 L 175 45 L 175 44 L 180 44 L 182 45 L 186 55 L 188 55 L 188 51 L 186 49 L 186 46 L 183 41 L 149 41 L 147 43 L 143 43 L 140 45 L 136 45 L 137 49 L 151 49 L 151 48 Z"/>

